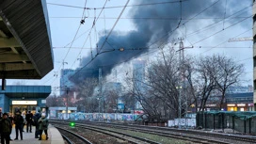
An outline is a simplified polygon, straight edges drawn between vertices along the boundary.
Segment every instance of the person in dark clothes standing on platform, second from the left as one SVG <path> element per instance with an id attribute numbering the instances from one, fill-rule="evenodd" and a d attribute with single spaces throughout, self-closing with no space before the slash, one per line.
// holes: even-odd
<path id="1" fill-rule="evenodd" d="M 14 116 L 14 123 L 15 123 L 15 132 L 16 132 L 16 138 L 14 140 L 18 140 L 19 131 L 20 131 L 20 135 L 21 135 L 21 140 L 23 140 L 24 118 L 20 111 L 16 112 L 16 115 Z"/>

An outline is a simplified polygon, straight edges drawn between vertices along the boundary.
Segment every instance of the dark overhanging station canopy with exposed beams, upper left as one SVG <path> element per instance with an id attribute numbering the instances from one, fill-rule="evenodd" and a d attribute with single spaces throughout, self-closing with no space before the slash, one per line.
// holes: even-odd
<path id="1" fill-rule="evenodd" d="M 54 68 L 45 0 L 0 0 L 0 79 L 40 79 Z"/>

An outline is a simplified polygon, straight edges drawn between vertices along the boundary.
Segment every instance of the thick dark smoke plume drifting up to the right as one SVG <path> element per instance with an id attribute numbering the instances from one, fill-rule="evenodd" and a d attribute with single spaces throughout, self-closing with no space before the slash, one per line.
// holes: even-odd
<path id="1" fill-rule="evenodd" d="M 148 4 L 148 3 L 159 3 L 166 2 L 167 0 L 140 0 L 136 4 Z M 137 1 L 136 1 L 137 2 Z M 189 19 L 196 14 L 198 14 L 204 8 L 211 6 L 216 1 L 211 0 L 187 0 L 183 2 L 182 6 L 182 18 Z M 232 11 L 232 8 L 239 7 L 237 4 L 240 1 L 235 1 L 235 3 L 230 3 L 227 6 L 227 13 Z M 223 17 L 225 9 L 225 1 L 220 0 L 212 8 L 205 10 L 198 17 Z M 156 20 L 156 19 L 133 19 L 132 22 L 136 26 L 136 30 L 130 31 L 123 34 L 120 31 L 114 31 L 108 38 L 107 42 L 104 44 L 104 48 L 101 52 L 108 51 L 110 49 L 119 49 L 124 47 L 125 49 L 131 48 L 147 48 L 149 44 L 159 38 L 167 35 L 169 31 L 175 29 L 180 23 L 181 18 L 181 6 L 180 3 L 171 3 L 164 5 L 153 5 L 153 6 L 143 6 L 134 7 L 129 11 L 129 17 L 134 18 L 178 18 L 176 20 Z M 181 22 L 184 24 L 187 20 Z M 200 25 L 199 25 L 200 26 Z M 125 27 L 123 27 L 125 28 Z M 102 46 L 105 37 L 102 36 L 98 41 L 99 47 Z M 161 40 L 161 43 L 168 43 L 168 39 Z M 124 52 L 119 52 L 118 50 L 108 53 L 103 53 L 97 58 L 95 58 L 83 71 L 79 72 L 76 76 L 76 82 L 85 79 L 86 77 L 98 76 L 98 68 L 103 68 L 103 74 L 108 74 L 116 63 L 125 61 L 129 58 L 138 56 L 137 53 L 143 54 L 149 51 L 149 49 L 143 50 L 125 50 Z M 95 55 L 96 52 L 93 52 Z M 87 57 L 83 57 L 82 67 L 85 66 L 91 59 L 90 54 Z M 93 72 L 87 69 L 95 68 Z"/>

